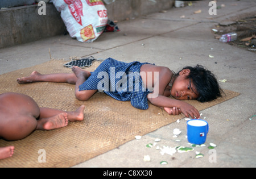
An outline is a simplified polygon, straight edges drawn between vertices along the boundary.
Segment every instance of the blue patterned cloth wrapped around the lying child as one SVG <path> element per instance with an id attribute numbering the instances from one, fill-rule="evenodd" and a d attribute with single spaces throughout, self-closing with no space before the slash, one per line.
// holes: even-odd
<path id="1" fill-rule="evenodd" d="M 147 94 L 152 91 L 144 88 L 139 75 L 144 64 L 148 63 L 124 63 L 108 58 L 91 72 L 91 76 L 79 86 L 79 91 L 104 91 L 119 101 L 131 101 L 131 105 L 137 109 L 148 109 Z"/>

